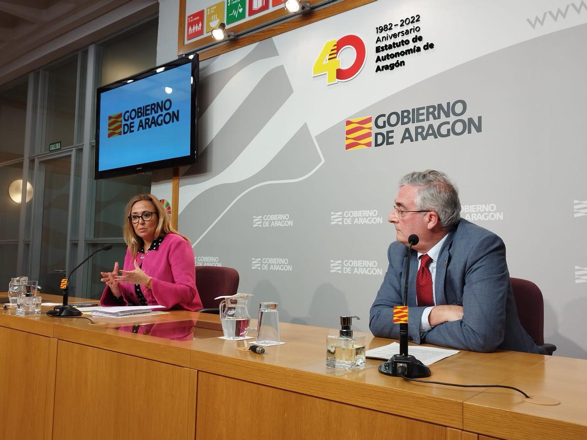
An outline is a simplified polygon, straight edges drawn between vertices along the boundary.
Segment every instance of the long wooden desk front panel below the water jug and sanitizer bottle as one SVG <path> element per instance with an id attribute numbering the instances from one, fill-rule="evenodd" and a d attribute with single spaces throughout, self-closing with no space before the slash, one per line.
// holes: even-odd
<path id="1" fill-rule="evenodd" d="M 198 373 L 198 402 L 196 440 L 447 438 L 438 425 L 209 373 Z"/>

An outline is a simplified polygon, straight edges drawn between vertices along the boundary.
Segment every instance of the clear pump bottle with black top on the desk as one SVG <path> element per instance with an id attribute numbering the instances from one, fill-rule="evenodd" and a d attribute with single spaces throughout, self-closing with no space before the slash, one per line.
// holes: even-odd
<path id="1" fill-rule="evenodd" d="M 365 336 L 353 336 L 352 321 L 341 316 L 339 334 L 326 337 L 326 367 L 357 370 L 365 367 Z"/>

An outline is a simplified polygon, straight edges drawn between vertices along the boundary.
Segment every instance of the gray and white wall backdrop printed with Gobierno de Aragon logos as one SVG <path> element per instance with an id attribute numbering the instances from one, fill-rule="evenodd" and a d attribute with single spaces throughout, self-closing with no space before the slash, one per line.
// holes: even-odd
<path id="1" fill-rule="evenodd" d="M 238 269 L 252 316 L 274 300 L 283 321 L 368 331 L 397 180 L 435 168 L 541 288 L 556 354 L 587 358 L 586 23 L 585 0 L 380 0 L 203 62 L 174 207 L 196 263 Z"/>

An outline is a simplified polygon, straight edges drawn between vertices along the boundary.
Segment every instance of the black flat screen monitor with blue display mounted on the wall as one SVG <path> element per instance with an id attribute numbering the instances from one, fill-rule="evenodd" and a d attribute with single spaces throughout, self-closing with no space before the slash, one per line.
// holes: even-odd
<path id="1" fill-rule="evenodd" d="M 197 160 L 198 56 L 97 89 L 94 178 Z"/>

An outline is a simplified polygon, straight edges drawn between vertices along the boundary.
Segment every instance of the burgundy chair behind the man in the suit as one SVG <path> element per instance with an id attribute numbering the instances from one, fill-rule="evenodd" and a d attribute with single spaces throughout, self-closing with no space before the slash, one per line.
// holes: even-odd
<path id="1" fill-rule="evenodd" d="M 554 344 L 544 343 L 544 300 L 537 285 L 521 278 L 510 278 L 514 290 L 515 306 L 518 309 L 519 321 L 530 337 L 539 346 L 552 354 L 556 350 Z"/>

